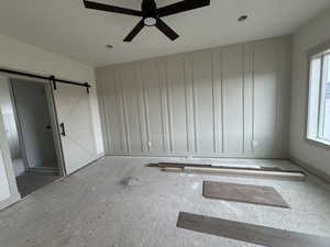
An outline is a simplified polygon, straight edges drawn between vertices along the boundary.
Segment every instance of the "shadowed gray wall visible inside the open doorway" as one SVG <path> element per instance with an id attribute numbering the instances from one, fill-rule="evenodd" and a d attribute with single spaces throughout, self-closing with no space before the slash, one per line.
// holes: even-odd
<path id="1" fill-rule="evenodd" d="M 30 168 L 57 167 L 44 83 L 11 79 Z"/>

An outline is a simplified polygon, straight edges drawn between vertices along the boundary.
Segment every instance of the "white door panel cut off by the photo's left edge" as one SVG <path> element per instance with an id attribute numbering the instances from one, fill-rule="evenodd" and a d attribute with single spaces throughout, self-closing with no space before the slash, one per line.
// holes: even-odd
<path id="1" fill-rule="evenodd" d="M 20 199 L 0 109 L 0 210 Z"/>

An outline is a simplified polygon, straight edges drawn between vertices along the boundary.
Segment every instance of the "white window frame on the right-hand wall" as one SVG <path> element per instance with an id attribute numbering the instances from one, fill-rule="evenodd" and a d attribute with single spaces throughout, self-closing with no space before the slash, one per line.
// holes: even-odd
<path id="1" fill-rule="evenodd" d="M 310 90 L 311 90 L 311 61 L 319 57 L 324 57 L 327 55 L 330 55 L 330 41 L 318 45 L 311 49 L 309 49 L 307 52 L 307 96 L 306 96 L 306 127 L 305 127 L 305 141 L 309 144 L 312 144 L 315 146 L 319 146 L 319 147 L 323 147 L 326 149 L 330 149 L 330 141 L 327 139 L 322 139 L 322 138 L 315 138 L 309 136 L 309 116 L 310 116 Z M 320 75 L 320 91 L 319 91 L 319 104 L 318 104 L 318 133 L 317 135 L 320 135 L 320 123 L 323 122 L 321 121 L 321 115 L 320 112 L 322 110 L 322 106 L 324 108 L 324 105 L 321 103 L 321 99 L 322 99 L 322 93 L 326 93 L 323 87 L 324 85 L 322 83 L 323 81 L 323 59 L 321 59 L 321 65 L 320 65 L 320 70 L 321 70 L 321 75 Z"/>

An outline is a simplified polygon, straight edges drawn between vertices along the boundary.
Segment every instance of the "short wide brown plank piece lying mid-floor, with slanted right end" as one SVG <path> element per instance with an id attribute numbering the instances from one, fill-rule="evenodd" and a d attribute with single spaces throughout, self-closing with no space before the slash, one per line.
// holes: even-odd
<path id="1" fill-rule="evenodd" d="M 209 199 L 289 209 L 282 195 L 272 187 L 205 181 L 202 195 Z"/>

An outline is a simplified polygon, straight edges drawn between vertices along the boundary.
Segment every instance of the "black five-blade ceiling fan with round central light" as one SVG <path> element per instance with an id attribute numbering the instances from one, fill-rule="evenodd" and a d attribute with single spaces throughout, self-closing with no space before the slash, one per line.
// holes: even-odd
<path id="1" fill-rule="evenodd" d="M 84 4 L 87 9 L 141 16 L 142 20 L 123 40 L 124 42 L 131 42 L 144 26 L 156 26 L 169 40 L 175 41 L 178 34 L 163 22 L 161 18 L 209 5 L 210 0 L 184 0 L 158 9 L 155 0 L 142 0 L 142 11 L 87 0 L 84 0 Z"/>

